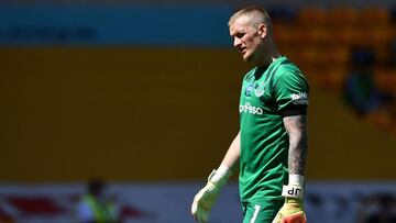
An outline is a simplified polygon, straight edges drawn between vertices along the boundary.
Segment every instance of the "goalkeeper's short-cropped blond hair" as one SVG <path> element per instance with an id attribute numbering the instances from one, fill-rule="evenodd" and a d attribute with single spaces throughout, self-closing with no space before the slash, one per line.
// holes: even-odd
<path id="1" fill-rule="evenodd" d="M 270 34 L 273 34 L 273 25 L 271 22 L 271 18 L 265 9 L 261 7 L 246 7 L 241 10 L 238 10 L 229 20 L 228 25 L 230 26 L 234 23 L 239 18 L 249 15 L 251 16 L 252 25 L 258 27 L 260 24 L 264 23 L 267 27 Z"/>

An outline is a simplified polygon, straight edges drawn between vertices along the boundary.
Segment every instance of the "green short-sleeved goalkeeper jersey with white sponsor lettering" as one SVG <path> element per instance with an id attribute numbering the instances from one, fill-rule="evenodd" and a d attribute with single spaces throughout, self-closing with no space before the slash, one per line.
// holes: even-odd
<path id="1" fill-rule="evenodd" d="M 289 146 L 283 118 L 305 114 L 308 101 L 307 80 L 286 57 L 245 75 L 239 108 L 242 202 L 280 198 Z"/>

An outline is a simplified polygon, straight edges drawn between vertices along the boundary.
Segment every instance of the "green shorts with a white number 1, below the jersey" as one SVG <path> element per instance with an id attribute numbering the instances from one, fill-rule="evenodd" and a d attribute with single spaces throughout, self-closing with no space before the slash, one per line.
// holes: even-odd
<path id="1" fill-rule="evenodd" d="M 284 204 L 284 199 L 243 202 L 243 223 L 272 223 Z"/>

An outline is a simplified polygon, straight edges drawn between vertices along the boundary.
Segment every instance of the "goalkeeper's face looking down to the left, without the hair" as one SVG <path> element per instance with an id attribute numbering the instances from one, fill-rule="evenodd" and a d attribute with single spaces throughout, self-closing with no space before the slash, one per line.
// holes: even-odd
<path id="1" fill-rule="evenodd" d="M 254 62 L 258 58 L 257 48 L 262 44 L 262 38 L 257 29 L 251 24 L 249 15 L 242 15 L 230 24 L 230 35 L 243 60 Z"/>

